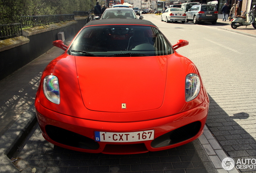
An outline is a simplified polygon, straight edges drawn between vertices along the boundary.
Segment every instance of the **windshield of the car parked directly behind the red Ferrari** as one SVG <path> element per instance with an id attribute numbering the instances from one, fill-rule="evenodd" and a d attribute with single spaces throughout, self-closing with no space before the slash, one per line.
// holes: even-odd
<path id="1" fill-rule="evenodd" d="M 133 10 L 120 10 L 120 9 L 111 9 L 105 11 L 101 17 L 101 19 L 108 19 L 108 18 L 132 18 L 136 19 L 136 15 L 134 14 Z"/>

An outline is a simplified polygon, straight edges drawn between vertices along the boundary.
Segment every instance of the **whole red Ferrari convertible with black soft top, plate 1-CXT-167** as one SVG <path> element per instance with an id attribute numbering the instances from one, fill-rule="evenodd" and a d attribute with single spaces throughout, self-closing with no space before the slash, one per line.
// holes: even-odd
<path id="1" fill-rule="evenodd" d="M 94 20 L 50 62 L 35 99 L 43 137 L 88 153 L 134 154 L 184 145 L 205 125 L 198 69 L 147 20 Z"/>

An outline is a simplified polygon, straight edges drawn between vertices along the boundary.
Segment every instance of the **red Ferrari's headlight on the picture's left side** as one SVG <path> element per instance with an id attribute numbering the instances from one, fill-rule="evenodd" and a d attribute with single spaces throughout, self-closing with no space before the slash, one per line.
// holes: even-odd
<path id="1" fill-rule="evenodd" d="M 60 89 L 58 78 L 56 76 L 45 76 L 43 79 L 43 93 L 52 103 L 60 104 Z"/>

